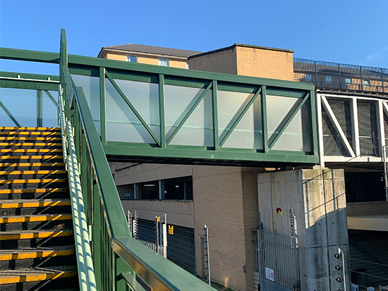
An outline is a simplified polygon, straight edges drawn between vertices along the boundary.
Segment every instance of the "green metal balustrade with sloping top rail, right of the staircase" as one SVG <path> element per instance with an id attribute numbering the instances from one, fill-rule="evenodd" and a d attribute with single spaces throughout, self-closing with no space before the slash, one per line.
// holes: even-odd
<path id="1" fill-rule="evenodd" d="M 61 84 L 66 116 L 74 128 L 81 187 L 92 230 L 97 290 L 214 290 L 131 237 L 119 193 L 85 94 L 68 71 L 66 36 L 61 31 Z M 69 126 L 71 126 L 69 125 Z M 89 191 L 85 191 L 89 190 Z"/>

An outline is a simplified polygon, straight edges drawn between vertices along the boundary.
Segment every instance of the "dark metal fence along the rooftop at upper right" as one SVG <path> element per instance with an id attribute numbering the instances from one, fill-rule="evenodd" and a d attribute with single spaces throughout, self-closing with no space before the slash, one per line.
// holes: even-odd
<path id="1" fill-rule="evenodd" d="M 388 93 L 388 68 L 293 58 L 294 80 L 317 89 Z"/>

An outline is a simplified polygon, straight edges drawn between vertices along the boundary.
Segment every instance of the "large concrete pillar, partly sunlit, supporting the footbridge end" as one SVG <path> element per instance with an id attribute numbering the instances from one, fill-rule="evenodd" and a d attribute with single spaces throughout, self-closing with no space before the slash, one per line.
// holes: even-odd
<path id="1" fill-rule="evenodd" d="M 257 175 L 262 226 L 291 233 L 289 209 L 298 225 L 302 290 L 344 290 L 343 269 L 335 254 L 344 252 L 346 290 L 350 290 L 348 228 L 343 170 L 314 168 Z M 281 209 L 281 211 L 277 211 Z"/>

